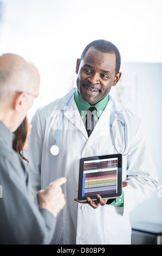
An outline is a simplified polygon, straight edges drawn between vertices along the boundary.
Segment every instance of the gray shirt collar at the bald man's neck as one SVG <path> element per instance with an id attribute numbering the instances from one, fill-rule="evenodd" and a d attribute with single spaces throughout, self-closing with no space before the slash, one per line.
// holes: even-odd
<path id="1" fill-rule="evenodd" d="M 15 135 L 0 120 L 0 140 L 12 148 L 12 141 Z"/>

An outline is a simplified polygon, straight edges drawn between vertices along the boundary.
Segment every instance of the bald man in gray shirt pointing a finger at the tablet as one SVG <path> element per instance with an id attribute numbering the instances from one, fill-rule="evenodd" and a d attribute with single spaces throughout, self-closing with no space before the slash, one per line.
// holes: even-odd
<path id="1" fill-rule="evenodd" d="M 0 244 L 50 243 L 56 216 L 66 203 L 61 189 L 66 178 L 60 178 L 37 193 L 38 209 L 23 160 L 12 149 L 12 132 L 33 105 L 39 86 L 33 64 L 15 54 L 0 56 Z"/>

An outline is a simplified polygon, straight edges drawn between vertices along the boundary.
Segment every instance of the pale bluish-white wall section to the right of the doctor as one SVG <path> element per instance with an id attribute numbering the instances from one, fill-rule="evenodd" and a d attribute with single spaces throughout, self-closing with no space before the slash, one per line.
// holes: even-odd
<path id="1" fill-rule="evenodd" d="M 120 86 L 125 88 L 126 94 L 124 94 L 124 99 L 122 99 L 121 103 L 125 103 L 141 118 L 159 178 L 158 190 L 150 200 L 132 211 L 130 220 L 132 223 L 139 221 L 159 223 L 162 230 L 162 64 L 122 63 L 121 71 L 123 76 L 122 84 L 119 83 L 113 89 L 118 90 Z M 129 90 L 130 87 L 132 87 L 132 90 Z"/>

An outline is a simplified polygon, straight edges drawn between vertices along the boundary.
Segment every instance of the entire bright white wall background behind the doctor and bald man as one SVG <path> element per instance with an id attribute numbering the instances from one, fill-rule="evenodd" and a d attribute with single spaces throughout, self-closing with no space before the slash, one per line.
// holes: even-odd
<path id="1" fill-rule="evenodd" d="M 113 93 L 124 92 L 119 100 L 144 121 L 160 184 L 161 7 L 161 0 L 4 0 L 0 24 L 0 54 L 19 54 L 40 71 L 43 100 L 29 119 L 75 86 L 75 62 L 90 41 L 112 41 L 122 58 L 122 79 Z M 132 212 L 131 221 L 162 223 L 158 192 Z"/>

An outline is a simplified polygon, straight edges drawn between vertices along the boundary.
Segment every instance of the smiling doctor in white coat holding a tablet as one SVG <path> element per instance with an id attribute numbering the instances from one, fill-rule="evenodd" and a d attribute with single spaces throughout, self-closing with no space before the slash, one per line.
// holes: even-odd
<path id="1" fill-rule="evenodd" d="M 115 147 L 123 154 L 122 198 L 113 202 L 102 200 L 77 203 L 77 182 L 81 157 L 116 154 L 109 130 L 109 118 L 114 112 L 108 93 L 118 83 L 121 72 L 118 49 L 105 40 L 91 42 L 77 59 L 77 90 L 65 109 L 72 89 L 62 99 L 38 109 L 29 138 L 29 169 L 36 192 L 51 181 L 66 176 L 64 185 L 66 206 L 57 217 L 54 239 L 59 244 L 129 244 L 131 225 L 129 212 L 149 199 L 158 185 L 157 173 L 147 148 L 140 119 L 120 103 L 116 108 L 126 121 L 126 147 L 121 123 L 113 120 Z M 95 126 L 87 134 L 86 111 L 95 106 Z M 57 144 L 59 154 L 50 154 L 64 111 L 64 121 Z M 61 113 L 61 114 L 60 114 Z M 126 183 L 124 183 L 126 184 Z M 74 200 L 75 198 L 75 200 Z M 94 209 L 95 208 L 95 209 Z"/>

